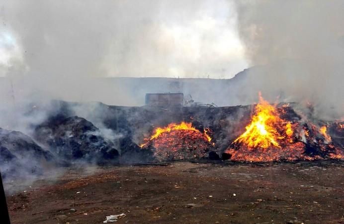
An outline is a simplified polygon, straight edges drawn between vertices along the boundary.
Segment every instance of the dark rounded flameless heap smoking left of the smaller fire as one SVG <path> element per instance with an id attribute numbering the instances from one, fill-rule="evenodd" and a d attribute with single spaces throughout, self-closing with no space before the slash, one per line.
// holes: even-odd
<path id="1" fill-rule="evenodd" d="M 35 128 L 35 139 L 63 159 L 112 163 L 118 158 L 114 144 L 85 118 L 54 116 Z"/>

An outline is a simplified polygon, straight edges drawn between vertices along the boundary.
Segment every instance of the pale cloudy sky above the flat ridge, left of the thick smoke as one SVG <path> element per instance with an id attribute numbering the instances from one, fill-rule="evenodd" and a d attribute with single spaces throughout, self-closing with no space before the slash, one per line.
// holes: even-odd
<path id="1" fill-rule="evenodd" d="M 230 0 L 0 0 L 0 76 L 231 78 Z"/>

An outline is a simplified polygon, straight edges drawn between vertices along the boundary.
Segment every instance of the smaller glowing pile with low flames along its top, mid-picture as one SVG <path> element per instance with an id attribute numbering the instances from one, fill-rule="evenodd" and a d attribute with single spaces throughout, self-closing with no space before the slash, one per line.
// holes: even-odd
<path id="1" fill-rule="evenodd" d="M 156 128 L 140 147 L 152 148 L 154 157 L 159 161 L 204 158 L 213 145 L 207 132 L 209 129 L 202 132 L 192 123 L 170 123 Z"/>

